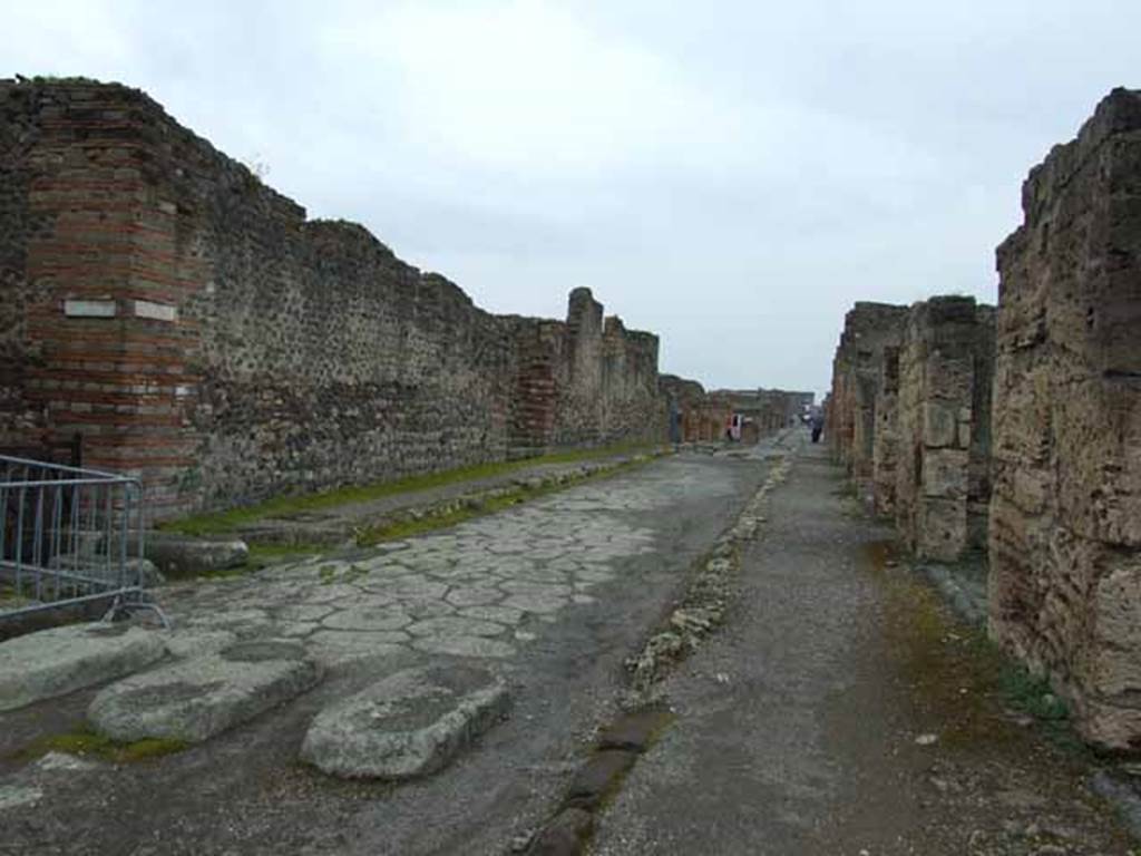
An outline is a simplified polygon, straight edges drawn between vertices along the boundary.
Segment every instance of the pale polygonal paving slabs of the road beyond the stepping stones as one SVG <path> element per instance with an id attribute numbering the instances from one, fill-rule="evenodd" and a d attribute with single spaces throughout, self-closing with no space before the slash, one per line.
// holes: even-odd
<path id="1" fill-rule="evenodd" d="M 177 628 L 168 644 L 290 638 L 335 670 L 418 654 L 510 659 L 650 549 L 650 531 L 614 516 L 658 508 L 658 478 L 584 484 L 353 559 L 168 586 L 162 603 Z"/>

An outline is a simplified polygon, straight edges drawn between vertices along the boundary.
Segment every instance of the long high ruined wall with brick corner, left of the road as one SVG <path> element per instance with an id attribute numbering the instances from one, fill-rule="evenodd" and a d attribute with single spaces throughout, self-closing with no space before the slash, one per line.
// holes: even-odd
<path id="1" fill-rule="evenodd" d="M 494 316 L 145 95 L 0 82 L 0 443 L 80 431 L 156 517 L 662 438 L 657 340 Z"/>

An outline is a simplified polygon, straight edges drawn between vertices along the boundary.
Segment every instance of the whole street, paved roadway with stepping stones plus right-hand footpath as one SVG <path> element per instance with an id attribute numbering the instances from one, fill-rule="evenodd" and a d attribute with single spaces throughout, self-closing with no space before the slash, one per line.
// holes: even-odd
<path id="1" fill-rule="evenodd" d="M 161 589 L 175 630 L 131 632 L 165 661 L 5 714 L 0 853 L 1125 854 L 1097 766 L 1009 708 L 806 436 Z M 631 694 L 726 531 L 726 627 Z M 192 745 L 29 752 L 84 716 Z"/>

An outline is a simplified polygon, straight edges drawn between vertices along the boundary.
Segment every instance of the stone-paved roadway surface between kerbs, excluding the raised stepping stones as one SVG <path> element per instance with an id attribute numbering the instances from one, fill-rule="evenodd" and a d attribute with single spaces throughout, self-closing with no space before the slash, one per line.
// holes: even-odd
<path id="1" fill-rule="evenodd" d="M 2 854 L 500 854 L 551 810 L 623 686 L 622 661 L 762 481 L 760 458 L 690 454 L 448 531 L 161 593 L 189 652 L 301 640 L 314 691 L 205 744 L 113 767 L 11 753 L 74 729 L 92 692 L 5 714 Z M 510 718 L 427 781 L 330 780 L 297 762 L 313 716 L 397 668 L 489 664 Z"/>

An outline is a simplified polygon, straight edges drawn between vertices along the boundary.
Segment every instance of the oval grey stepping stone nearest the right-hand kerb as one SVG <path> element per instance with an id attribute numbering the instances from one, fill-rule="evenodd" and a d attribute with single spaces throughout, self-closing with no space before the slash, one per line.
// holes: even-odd
<path id="1" fill-rule="evenodd" d="M 423 776 L 447 766 L 507 705 L 507 685 L 486 669 L 406 669 L 318 713 L 301 759 L 343 778 Z"/>

